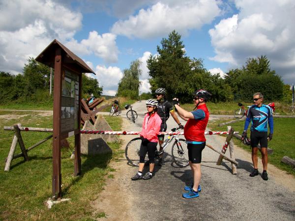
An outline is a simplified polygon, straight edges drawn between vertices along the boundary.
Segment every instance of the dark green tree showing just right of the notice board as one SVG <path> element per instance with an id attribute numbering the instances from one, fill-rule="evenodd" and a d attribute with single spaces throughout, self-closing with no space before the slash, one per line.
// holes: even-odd
<path id="1" fill-rule="evenodd" d="M 82 93 L 93 94 L 94 97 L 100 97 L 102 94 L 103 87 L 99 86 L 97 79 L 88 77 L 86 74 L 82 74 Z"/>

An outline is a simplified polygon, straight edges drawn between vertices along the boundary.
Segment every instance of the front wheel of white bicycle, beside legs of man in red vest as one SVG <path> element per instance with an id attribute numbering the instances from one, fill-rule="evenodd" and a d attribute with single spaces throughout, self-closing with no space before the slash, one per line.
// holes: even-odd
<path id="1" fill-rule="evenodd" d="M 188 166 L 188 149 L 185 139 L 180 138 L 179 142 L 174 141 L 172 146 L 172 159 L 179 167 Z"/>

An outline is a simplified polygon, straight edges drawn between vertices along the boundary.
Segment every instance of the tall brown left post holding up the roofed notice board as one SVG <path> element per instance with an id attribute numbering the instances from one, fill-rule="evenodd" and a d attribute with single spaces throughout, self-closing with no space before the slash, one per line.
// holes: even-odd
<path id="1" fill-rule="evenodd" d="M 55 199 L 61 198 L 61 168 L 60 168 L 60 107 L 61 107 L 61 49 L 56 49 L 54 65 L 54 99 L 53 99 L 53 174 L 52 194 Z"/>

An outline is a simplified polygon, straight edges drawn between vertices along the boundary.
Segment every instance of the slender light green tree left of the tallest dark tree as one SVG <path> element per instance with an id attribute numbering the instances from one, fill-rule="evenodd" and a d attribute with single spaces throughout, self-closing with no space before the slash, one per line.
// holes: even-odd
<path id="1" fill-rule="evenodd" d="M 142 62 L 138 59 L 130 63 L 130 68 L 123 70 L 123 77 L 118 83 L 118 96 L 137 99 L 139 95 L 140 81 L 142 74 L 140 69 Z"/>

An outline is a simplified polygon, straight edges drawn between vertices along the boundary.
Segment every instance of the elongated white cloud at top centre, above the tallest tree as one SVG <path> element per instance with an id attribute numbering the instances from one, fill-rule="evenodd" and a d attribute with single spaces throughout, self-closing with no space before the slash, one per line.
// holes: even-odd
<path id="1" fill-rule="evenodd" d="M 163 36 L 174 29 L 187 34 L 189 29 L 210 24 L 219 13 L 215 0 L 157 2 L 146 10 L 141 9 L 137 15 L 129 16 L 127 20 L 119 20 L 111 31 L 129 38 Z"/>

